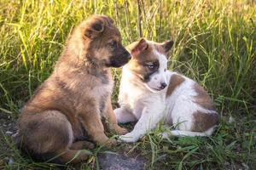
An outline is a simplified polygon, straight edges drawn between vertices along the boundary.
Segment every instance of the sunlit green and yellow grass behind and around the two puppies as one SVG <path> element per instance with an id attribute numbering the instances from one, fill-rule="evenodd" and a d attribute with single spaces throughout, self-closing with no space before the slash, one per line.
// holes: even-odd
<path id="1" fill-rule="evenodd" d="M 115 20 L 125 45 L 140 36 L 154 41 L 172 38 L 175 46 L 169 69 L 201 82 L 220 115 L 220 125 L 212 138 L 162 140 L 156 135 L 159 127 L 137 144 L 121 144 L 112 151 L 141 155 L 151 169 L 255 168 L 255 1 L 138 2 L 139 5 L 136 0 L 0 0 L 2 115 L 9 116 L 12 122 L 19 116 L 21 106 L 49 77 L 73 26 L 90 14 L 107 14 Z M 113 102 L 117 99 L 119 72 L 113 70 L 117 82 Z M 55 167 L 21 157 L 2 127 L 0 131 L 0 169 Z M 97 168 L 96 155 L 104 150 L 92 150 L 90 160 L 79 166 Z M 15 163 L 5 164 L 6 157 L 13 157 Z"/>

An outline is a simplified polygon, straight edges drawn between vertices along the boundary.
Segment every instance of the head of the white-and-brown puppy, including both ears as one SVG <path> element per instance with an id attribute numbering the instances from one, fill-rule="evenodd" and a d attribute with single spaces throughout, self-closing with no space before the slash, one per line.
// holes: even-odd
<path id="1" fill-rule="evenodd" d="M 131 53 L 131 60 L 127 68 L 139 77 L 145 87 L 153 93 L 167 86 L 166 54 L 172 45 L 172 41 L 156 43 L 142 38 L 127 47 Z"/>

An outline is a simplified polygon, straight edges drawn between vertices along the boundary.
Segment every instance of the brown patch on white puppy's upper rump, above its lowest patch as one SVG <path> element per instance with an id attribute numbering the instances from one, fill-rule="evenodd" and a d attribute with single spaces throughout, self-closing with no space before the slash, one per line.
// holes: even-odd
<path id="1" fill-rule="evenodd" d="M 207 94 L 206 90 L 197 83 L 195 83 L 194 89 L 197 94 L 195 96 L 195 103 L 201 105 L 201 107 L 205 109 L 214 110 L 213 101 L 209 94 Z"/>

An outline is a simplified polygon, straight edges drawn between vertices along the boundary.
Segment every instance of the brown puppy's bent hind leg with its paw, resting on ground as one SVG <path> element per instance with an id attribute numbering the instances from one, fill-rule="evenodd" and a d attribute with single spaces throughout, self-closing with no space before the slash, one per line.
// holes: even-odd
<path id="1" fill-rule="evenodd" d="M 69 148 L 73 140 L 72 126 L 60 111 L 26 114 L 20 116 L 19 123 L 18 143 L 36 160 L 75 163 L 87 159 L 82 150 Z M 85 147 L 90 144 L 79 142 L 75 145 Z"/>

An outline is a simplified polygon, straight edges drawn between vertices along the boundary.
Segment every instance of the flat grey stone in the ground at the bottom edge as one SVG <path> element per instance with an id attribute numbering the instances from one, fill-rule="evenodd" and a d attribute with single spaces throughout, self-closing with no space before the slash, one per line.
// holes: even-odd
<path id="1" fill-rule="evenodd" d="M 143 170 L 146 161 L 142 157 L 127 157 L 117 153 L 102 153 L 99 155 L 102 170 Z"/>

